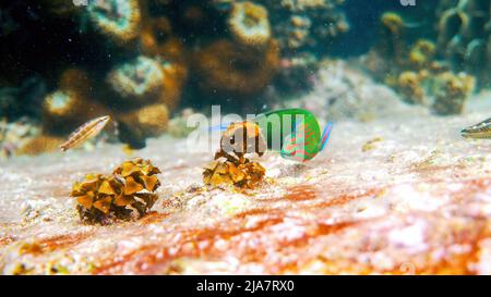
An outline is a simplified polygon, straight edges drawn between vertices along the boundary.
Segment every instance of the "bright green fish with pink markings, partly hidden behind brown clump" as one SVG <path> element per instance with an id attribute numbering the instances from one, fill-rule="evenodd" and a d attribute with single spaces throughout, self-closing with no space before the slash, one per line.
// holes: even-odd
<path id="1" fill-rule="evenodd" d="M 315 116 L 303 109 L 270 111 L 252 121 L 261 128 L 268 150 L 279 151 L 284 159 L 299 162 L 312 160 L 322 151 L 333 128 L 333 123 L 328 122 L 321 134 Z M 219 125 L 219 128 L 227 129 L 229 124 Z"/>

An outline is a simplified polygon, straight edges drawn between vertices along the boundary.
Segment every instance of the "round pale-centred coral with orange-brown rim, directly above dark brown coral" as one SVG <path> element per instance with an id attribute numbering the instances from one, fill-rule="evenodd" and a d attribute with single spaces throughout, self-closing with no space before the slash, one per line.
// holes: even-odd
<path id="1" fill-rule="evenodd" d="M 250 1 L 232 4 L 228 26 L 232 36 L 247 46 L 263 46 L 272 35 L 267 10 Z"/>

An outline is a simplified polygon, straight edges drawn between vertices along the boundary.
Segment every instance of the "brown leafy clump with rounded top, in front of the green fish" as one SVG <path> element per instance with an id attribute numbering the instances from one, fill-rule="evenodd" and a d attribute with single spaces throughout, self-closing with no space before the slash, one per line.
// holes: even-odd
<path id="1" fill-rule="evenodd" d="M 230 124 L 221 135 L 220 149 L 215 154 L 215 161 L 204 168 L 203 182 L 213 186 L 254 188 L 264 180 L 266 170 L 244 156 L 254 152 L 262 156 L 265 149 L 265 139 L 255 123 Z"/>

